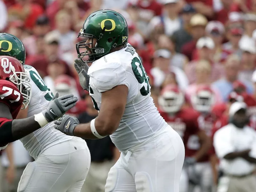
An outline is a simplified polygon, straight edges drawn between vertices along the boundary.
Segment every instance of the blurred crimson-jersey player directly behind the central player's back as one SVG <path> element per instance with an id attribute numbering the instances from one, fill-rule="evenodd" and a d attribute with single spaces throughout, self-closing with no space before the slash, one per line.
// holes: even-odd
<path id="1" fill-rule="evenodd" d="M 186 173 L 188 179 L 194 184 L 203 185 L 205 182 L 204 175 L 201 175 L 203 167 L 197 166 L 197 162 L 205 160 L 211 143 L 205 130 L 199 128 L 202 124 L 200 114 L 193 108 L 184 106 L 184 94 L 176 85 L 164 87 L 158 103 L 161 116 L 180 134 L 185 145 L 185 162 L 183 177 L 180 180 L 180 191 L 187 192 L 190 188 L 188 189 L 188 182 L 184 179 Z"/>

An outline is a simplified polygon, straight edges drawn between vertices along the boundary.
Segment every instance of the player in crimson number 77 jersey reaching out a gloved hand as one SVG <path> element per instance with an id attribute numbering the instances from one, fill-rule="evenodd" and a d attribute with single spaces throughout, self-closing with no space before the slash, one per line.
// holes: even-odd
<path id="1" fill-rule="evenodd" d="M 73 95 L 59 98 L 56 95 L 41 112 L 29 118 L 15 119 L 21 107 L 27 108 L 30 99 L 31 84 L 20 61 L 0 56 L 0 150 L 59 118 L 77 100 Z"/>

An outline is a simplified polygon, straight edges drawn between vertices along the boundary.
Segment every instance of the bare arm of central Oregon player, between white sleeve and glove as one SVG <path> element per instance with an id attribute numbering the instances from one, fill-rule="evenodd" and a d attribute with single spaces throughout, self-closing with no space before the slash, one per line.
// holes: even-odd
<path id="1" fill-rule="evenodd" d="M 127 95 L 126 85 L 117 85 L 109 91 L 102 92 L 100 112 L 95 118 L 95 128 L 101 136 L 111 135 L 118 128 L 124 114 Z M 84 139 L 98 139 L 92 134 L 90 123 L 78 124 L 73 133 Z"/>

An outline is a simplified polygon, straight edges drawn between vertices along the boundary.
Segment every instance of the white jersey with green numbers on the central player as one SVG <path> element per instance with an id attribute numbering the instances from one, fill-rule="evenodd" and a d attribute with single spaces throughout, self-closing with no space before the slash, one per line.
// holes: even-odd
<path id="1" fill-rule="evenodd" d="M 124 115 L 117 130 L 110 135 L 120 151 L 142 143 L 168 126 L 150 97 L 148 76 L 139 55 L 130 44 L 94 61 L 88 75 L 89 93 L 97 110 L 100 110 L 101 92 L 121 84 L 128 87 Z"/>

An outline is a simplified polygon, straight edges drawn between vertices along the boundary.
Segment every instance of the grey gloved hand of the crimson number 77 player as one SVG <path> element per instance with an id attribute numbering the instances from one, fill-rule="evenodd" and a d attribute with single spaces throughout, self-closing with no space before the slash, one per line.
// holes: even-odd
<path id="1" fill-rule="evenodd" d="M 48 122 L 51 122 L 55 119 L 61 117 L 69 109 L 76 105 L 77 97 L 74 97 L 72 94 L 63 95 L 59 97 L 57 92 L 52 98 L 47 108 L 42 111 L 44 117 Z"/>

